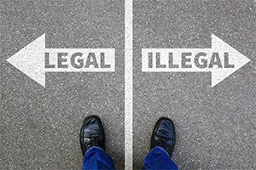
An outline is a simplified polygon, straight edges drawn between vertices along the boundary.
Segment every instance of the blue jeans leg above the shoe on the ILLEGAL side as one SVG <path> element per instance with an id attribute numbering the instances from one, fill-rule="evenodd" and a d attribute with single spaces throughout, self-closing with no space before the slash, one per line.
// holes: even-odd
<path id="1" fill-rule="evenodd" d="M 177 165 L 172 161 L 164 148 L 156 146 L 148 153 L 143 162 L 143 170 L 149 169 L 177 170 Z"/>

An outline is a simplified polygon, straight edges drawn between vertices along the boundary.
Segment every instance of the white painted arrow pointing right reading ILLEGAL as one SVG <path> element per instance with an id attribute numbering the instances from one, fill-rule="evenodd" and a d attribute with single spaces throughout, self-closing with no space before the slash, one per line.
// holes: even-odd
<path id="1" fill-rule="evenodd" d="M 142 71 L 212 72 L 212 87 L 250 59 L 212 34 L 212 48 L 143 48 Z"/>

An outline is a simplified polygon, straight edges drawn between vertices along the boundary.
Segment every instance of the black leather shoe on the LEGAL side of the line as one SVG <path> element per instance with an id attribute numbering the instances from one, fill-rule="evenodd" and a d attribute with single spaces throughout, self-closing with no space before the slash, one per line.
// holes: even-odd
<path id="1" fill-rule="evenodd" d="M 88 116 L 84 119 L 80 131 L 80 144 L 83 156 L 91 146 L 105 150 L 105 133 L 100 117 Z"/>

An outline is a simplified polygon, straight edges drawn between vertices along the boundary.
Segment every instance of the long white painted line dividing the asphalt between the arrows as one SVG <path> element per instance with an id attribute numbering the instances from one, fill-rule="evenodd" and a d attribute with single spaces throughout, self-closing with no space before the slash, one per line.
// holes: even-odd
<path id="1" fill-rule="evenodd" d="M 125 169 L 132 169 L 132 0 L 125 0 Z"/>

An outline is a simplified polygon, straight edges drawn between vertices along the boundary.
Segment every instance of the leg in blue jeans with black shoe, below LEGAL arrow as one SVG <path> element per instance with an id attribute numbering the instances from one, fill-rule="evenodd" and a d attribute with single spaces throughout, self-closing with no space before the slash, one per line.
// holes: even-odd
<path id="1" fill-rule="evenodd" d="M 80 144 L 84 156 L 83 170 L 114 169 L 112 158 L 105 152 L 105 133 L 98 116 L 84 119 Z"/>

